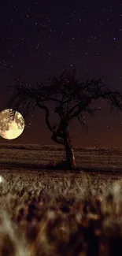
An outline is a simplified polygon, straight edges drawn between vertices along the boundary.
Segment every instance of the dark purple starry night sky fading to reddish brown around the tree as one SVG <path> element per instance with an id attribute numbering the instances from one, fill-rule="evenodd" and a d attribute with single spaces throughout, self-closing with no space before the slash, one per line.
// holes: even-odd
<path id="1" fill-rule="evenodd" d="M 119 0 L 0 1 L 0 110 L 6 109 L 7 86 L 20 76 L 35 84 L 59 76 L 65 66 L 83 79 L 104 76 L 112 89 L 122 86 L 122 2 Z M 75 147 L 122 147 L 122 113 L 87 117 L 86 135 L 78 122 L 70 128 Z M 30 126 L 31 120 L 31 126 Z M 19 138 L 0 143 L 54 144 L 43 110 L 25 120 Z"/>

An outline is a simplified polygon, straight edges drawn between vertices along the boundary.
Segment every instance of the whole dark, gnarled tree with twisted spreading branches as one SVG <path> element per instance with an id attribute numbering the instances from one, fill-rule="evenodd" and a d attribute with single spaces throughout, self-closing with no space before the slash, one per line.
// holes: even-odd
<path id="1" fill-rule="evenodd" d="M 13 93 L 9 98 L 11 115 L 23 109 L 24 117 L 35 107 L 45 111 L 46 126 L 49 128 L 53 141 L 64 145 L 69 169 L 76 166 L 72 142 L 68 127 L 71 121 L 78 119 L 82 128 L 87 132 L 87 124 L 83 121 L 83 113 L 92 116 L 101 108 L 92 108 L 94 100 L 103 98 L 109 102 L 110 111 L 122 109 L 122 95 L 119 91 L 112 91 L 103 83 L 102 78 L 83 80 L 77 78 L 76 70 L 68 72 L 66 69 L 59 77 L 53 77 L 46 84 L 41 82 L 31 87 L 20 80 L 13 83 Z M 54 102 L 54 114 L 58 115 L 57 124 L 51 124 L 48 102 Z"/>

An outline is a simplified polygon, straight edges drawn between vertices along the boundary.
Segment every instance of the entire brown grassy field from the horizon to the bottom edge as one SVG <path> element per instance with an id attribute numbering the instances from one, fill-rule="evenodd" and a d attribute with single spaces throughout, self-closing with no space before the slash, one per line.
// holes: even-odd
<path id="1" fill-rule="evenodd" d="M 0 255 L 121 255 L 122 149 L 75 154 L 79 171 L 49 170 L 61 147 L 0 144 Z"/>

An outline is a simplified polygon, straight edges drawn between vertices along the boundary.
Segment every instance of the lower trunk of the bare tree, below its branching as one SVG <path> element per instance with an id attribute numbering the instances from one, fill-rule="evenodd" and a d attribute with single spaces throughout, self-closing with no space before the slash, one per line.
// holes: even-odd
<path id="1" fill-rule="evenodd" d="M 65 152 L 66 152 L 66 160 L 68 163 L 68 168 L 75 169 L 76 167 L 75 155 L 74 155 L 74 150 L 72 148 L 71 140 L 69 138 L 65 139 Z"/>

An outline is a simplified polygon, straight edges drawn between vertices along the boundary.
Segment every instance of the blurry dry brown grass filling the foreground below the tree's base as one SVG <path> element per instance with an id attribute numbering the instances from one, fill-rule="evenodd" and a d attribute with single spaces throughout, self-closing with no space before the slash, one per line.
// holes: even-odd
<path id="1" fill-rule="evenodd" d="M 7 170 L 2 178 L 0 256 L 121 254 L 121 180 Z"/>

